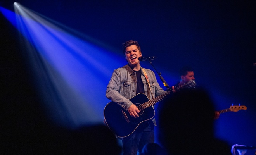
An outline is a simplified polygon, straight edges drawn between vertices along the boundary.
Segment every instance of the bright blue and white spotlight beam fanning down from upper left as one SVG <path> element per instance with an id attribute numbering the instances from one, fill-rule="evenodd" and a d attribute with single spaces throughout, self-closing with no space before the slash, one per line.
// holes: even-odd
<path id="1" fill-rule="evenodd" d="M 3 8 L 1 12 L 22 35 L 24 57 L 49 119 L 69 128 L 103 123 L 103 110 L 110 102 L 106 86 L 113 69 L 126 64 L 124 57 L 17 2 L 14 9 L 15 13 Z"/>

